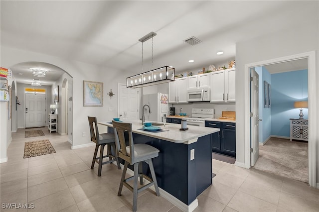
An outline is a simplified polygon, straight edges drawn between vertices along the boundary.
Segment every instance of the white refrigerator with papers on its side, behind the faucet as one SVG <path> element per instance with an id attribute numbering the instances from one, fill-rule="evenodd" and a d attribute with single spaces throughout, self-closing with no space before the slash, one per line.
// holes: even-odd
<path id="1" fill-rule="evenodd" d="M 151 113 L 149 113 L 149 108 L 145 107 L 145 120 L 163 122 L 163 117 L 168 115 L 167 94 L 156 93 L 143 95 L 143 106 L 144 105 L 149 105 L 151 109 Z"/>

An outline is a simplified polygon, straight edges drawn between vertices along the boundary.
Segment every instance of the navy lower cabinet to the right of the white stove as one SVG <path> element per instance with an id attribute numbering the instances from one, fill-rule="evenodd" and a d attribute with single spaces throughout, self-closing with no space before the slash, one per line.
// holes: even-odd
<path id="1" fill-rule="evenodd" d="M 211 134 L 211 150 L 236 157 L 236 123 L 206 121 L 205 126 L 220 129 Z"/>

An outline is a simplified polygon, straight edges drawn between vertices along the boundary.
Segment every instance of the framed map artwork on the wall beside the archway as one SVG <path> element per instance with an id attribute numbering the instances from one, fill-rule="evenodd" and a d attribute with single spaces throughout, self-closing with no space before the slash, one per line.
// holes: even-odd
<path id="1" fill-rule="evenodd" d="M 83 81 L 83 106 L 103 106 L 103 83 Z"/>

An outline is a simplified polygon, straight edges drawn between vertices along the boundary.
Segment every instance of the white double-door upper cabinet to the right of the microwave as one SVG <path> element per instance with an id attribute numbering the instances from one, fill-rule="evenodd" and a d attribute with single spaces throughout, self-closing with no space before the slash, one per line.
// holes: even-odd
<path id="1" fill-rule="evenodd" d="M 210 74 L 210 102 L 234 103 L 235 98 L 235 68 L 216 71 Z"/>

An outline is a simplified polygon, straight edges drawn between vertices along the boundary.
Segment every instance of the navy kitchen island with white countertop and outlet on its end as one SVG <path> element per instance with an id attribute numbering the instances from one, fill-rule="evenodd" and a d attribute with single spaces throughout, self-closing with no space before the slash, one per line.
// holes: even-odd
<path id="1" fill-rule="evenodd" d="M 163 131 L 145 131 L 140 120 L 132 123 L 134 143 L 146 143 L 160 150 L 153 159 L 160 195 L 183 211 L 193 211 L 198 206 L 196 197 L 212 184 L 211 134 L 219 129 L 187 126 L 179 130 L 179 124 L 166 124 Z M 108 126 L 110 121 L 99 124 Z M 133 167 L 130 167 L 133 169 Z M 148 165 L 143 172 L 151 176 Z"/>

